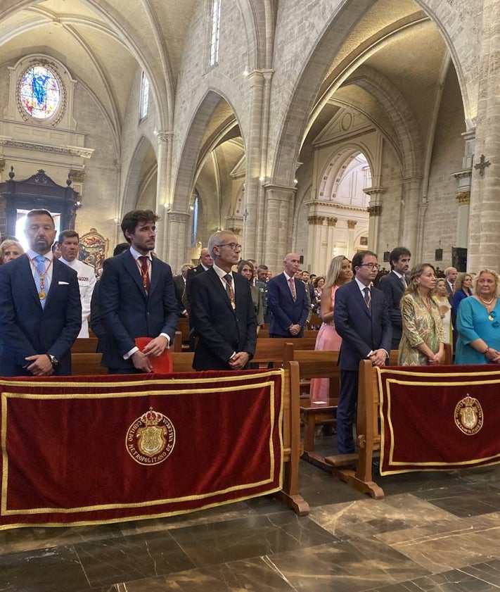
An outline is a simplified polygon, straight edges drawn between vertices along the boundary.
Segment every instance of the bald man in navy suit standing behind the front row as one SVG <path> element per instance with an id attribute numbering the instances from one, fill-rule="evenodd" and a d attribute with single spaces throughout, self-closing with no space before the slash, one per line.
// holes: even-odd
<path id="1" fill-rule="evenodd" d="M 267 306 L 272 317 L 271 337 L 302 337 L 309 315 L 309 300 L 302 279 L 295 279 L 299 270 L 299 256 L 288 253 L 283 261 L 285 269 L 267 284 Z"/>

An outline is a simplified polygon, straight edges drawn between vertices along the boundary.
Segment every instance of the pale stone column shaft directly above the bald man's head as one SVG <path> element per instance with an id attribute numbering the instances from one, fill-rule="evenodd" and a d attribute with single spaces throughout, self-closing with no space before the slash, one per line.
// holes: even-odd
<path id="1" fill-rule="evenodd" d="M 292 248 L 293 208 L 296 190 L 295 187 L 266 185 L 265 191 L 265 232 L 262 261 L 269 265 L 271 271 L 276 275 L 276 272 L 279 272 L 283 266 L 284 256 Z"/>

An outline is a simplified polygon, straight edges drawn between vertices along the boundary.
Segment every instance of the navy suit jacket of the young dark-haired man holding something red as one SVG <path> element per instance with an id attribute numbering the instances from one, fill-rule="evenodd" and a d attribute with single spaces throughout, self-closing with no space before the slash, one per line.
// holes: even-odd
<path id="1" fill-rule="evenodd" d="M 165 333 L 174 344 L 179 320 L 174 279 L 167 263 L 153 257 L 151 281 L 146 296 L 141 272 L 130 251 L 104 261 L 99 286 L 99 308 L 105 329 L 103 365 L 132 369 L 132 359 L 123 355 L 135 346 L 136 337 Z"/>

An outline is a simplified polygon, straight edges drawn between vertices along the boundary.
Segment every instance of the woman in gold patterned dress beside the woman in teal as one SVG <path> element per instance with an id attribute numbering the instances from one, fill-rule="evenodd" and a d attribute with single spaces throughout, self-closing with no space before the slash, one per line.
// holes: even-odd
<path id="1" fill-rule="evenodd" d="M 435 269 L 430 263 L 416 265 L 401 299 L 402 338 L 398 363 L 401 366 L 442 364 L 444 329 L 440 308 L 433 298 Z"/>

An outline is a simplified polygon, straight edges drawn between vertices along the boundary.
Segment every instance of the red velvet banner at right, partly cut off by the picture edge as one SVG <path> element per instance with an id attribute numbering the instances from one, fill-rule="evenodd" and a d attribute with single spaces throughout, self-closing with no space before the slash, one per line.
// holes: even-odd
<path id="1" fill-rule="evenodd" d="M 380 474 L 500 462 L 500 371 L 429 366 L 378 371 Z"/>

